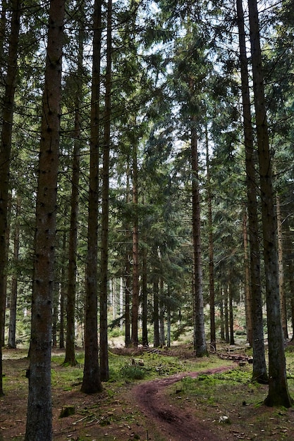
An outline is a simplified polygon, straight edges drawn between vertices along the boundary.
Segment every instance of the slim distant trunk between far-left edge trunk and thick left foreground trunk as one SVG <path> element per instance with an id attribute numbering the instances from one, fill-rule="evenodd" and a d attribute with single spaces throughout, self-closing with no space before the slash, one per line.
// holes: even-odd
<path id="1" fill-rule="evenodd" d="M 10 297 L 10 314 L 9 314 L 9 330 L 8 330 L 8 347 L 16 348 L 16 307 L 18 298 L 18 255 L 20 247 L 20 204 L 21 199 L 18 195 L 16 197 L 16 226 L 14 228 L 13 240 L 13 261 L 15 269 L 11 282 L 11 297 Z"/>

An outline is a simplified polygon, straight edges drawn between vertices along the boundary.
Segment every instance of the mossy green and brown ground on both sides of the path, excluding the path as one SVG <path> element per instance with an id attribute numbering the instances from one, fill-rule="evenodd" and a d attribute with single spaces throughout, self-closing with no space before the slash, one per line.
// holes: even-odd
<path id="1" fill-rule="evenodd" d="M 29 365 L 26 356 L 25 351 L 4 349 L 6 397 L 1 400 L 4 439 L 23 439 L 21 433 L 25 427 L 27 399 L 25 371 Z M 200 372 L 200 375 L 197 378 L 186 375 L 170 386 L 166 390 L 166 399 L 170 400 L 172 406 L 186 409 L 202 423 L 212 427 L 220 434 L 221 440 L 294 440 L 294 409 L 271 409 L 262 405 L 267 396 L 267 385 L 251 382 L 250 364 L 239 366 L 235 363 L 235 367 L 229 371 L 206 374 L 201 372 L 229 366 L 232 362 L 219 359 L 216 354 L 195 359 L 192 347 L 154 352 L 111 350 L 111 375 L 109 382 L 104 383 L 104 392 L 99 396 L 85 397 L 80 392 L 83 357 L 82 350 L 78 349 L 77 366 L 64 366 L 64 352 L 56 350 L 52 353 L 54 440 L 159 440 L 158 433 L 151 433 L 150 421 L 146 421 L 130 401 L 133 385 L 138 381 L 193 371 Z M 290 395 L 294 397 L 292 347 L 286 349 L 286 359 Z M 75 406 L 75 414 L 61 421 L 60 409 L 64 405 Z M 17 430 L 20 435 L 14 436 Z"/>

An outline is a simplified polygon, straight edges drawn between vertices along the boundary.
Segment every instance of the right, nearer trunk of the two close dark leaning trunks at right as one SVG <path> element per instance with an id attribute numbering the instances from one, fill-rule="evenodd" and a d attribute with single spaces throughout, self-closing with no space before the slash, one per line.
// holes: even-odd
<path id="1" fill-rule="evenodd" d="M 272 182 L 271 152 L 264 97 L 264 74 L 260 48 L 257 0 L 248 0 L 250 44 L 252 56 L 257 149 L 262 201 L 262 235 L 264 245 L 265 285 L 267 297 L 267 329 L 269 340 L 268 406 L 290 407 L 292 399 L 286 379 L 286 359 L 281 325 L 281 305 L 278 290 L 278 253 L 276 249 L 276 216 Z"/>

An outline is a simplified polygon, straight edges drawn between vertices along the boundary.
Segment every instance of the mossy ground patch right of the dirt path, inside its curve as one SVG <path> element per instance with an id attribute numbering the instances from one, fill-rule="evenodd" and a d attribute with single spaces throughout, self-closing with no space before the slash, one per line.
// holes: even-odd
<path id="1" fill-rule="evenodd" d="M 288 387 L 294 397 L 294 352 L 287 354 Z M 252 365 L 214 375 L 185 377 L 169 387 L 169 399 L 188 408 L 220 439 L 294 440 L 294 409 L 264 406 L 268 386 L 252 383 Z"/>

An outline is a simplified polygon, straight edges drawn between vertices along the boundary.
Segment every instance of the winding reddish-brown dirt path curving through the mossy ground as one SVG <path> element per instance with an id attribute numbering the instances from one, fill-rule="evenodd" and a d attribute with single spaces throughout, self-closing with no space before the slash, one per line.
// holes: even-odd
<path id="1" fill-rule="evenodd" d="M 220 373 L 229 368 L 216 368 L 201 373 Z M 164 434 L 166 441 L 223 440 L 223 437 L 219 438 L 207 427 L 207 423 L 197 421 L 188 407 L 187 409 L 179 409 L 176 406 L 171 406 L 166 399 L 164 392 L 167 386 L 184 377 L 196 378 L 198 375 L 199 372 L 181 373 L 135 386 L 137 404 L 148 418 L 152 418 L 157 429 Z"/>

